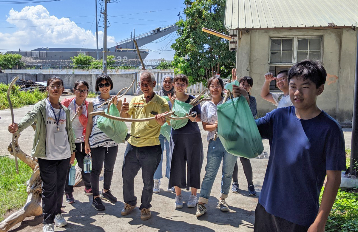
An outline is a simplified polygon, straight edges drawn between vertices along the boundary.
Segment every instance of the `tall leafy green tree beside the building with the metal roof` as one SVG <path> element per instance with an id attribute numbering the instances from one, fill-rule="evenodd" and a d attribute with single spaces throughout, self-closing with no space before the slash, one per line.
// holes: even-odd
<path id="1" fill-rule="evenodd" d="M 229 51 L 229 41 L 207 34 L 202 28 L 227 33 L 224 27 L 226 0 L 184 0 L 187 20 L 179 20 L 179 38 L 171 45 L 175 50 L 175 73 L 184 73 L 190 83 L 206 82 L 215 73 L 227 77 L 235 65 L 235 52 Z M 188 59 L 184 59 L 188 54 Z"/>

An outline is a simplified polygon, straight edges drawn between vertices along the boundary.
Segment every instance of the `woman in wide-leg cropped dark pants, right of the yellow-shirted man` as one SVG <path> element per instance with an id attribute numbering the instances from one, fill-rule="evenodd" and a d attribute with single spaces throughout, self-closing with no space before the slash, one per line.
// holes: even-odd
<path id="1" fill-rule="evenodd" d="M 169 94 L 172 105 L 174 101 L 189 103 L 194 97 L 185 93 L 189 79 L 184 74 L 178 74 L 173 80 L 175 95 Z M 200 171 L 204 160 L 203 142 L 198 122 L 200 122 L 200 104 L 193 107 L 197 115 L 190 117 L 188 123 L 179 128 L 171 129 L 170 139 L 170 175 L 169 186 L 175 188 L 175 207 L 183 208 L 182 189 L 191 188 L 188 207 L 195 207 L 198 203 L 197 191 L 200 188 Z M 186 166 L 188 170 L 186 171 Z"/>

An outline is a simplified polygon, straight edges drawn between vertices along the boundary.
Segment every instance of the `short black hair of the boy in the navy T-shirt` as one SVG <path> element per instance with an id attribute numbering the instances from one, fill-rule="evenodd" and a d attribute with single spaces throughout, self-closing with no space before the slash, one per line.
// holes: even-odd
<path id="1" fill-rule="evenodd" d="M 327 72 L 321 61 L 305 59 L 290 68 L 287 81 L 290 83 L 293 77 L 302 78 L 304 81 L 308 79 L 310 82 L 316 84 L 316 88 L 318 88 L 326 82 Z"/>

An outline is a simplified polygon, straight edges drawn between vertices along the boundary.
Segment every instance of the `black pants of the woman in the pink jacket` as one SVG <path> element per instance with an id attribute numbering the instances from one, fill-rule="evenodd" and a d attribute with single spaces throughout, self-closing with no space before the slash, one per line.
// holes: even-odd
<path id="1" fill-rule="evenodd" d="M 83 183 L 84 183 L 84 186 L 86 187 L 86 189 L 90 189 L 91 188 L 91 183 L 89 182 L 89 177 L 91 176 L 91 173 L 85 173 L 83 171 L 83 159 L 84 159 L 84 156 L 87 155 L 84 152 L 84 142 L 76 142 L 75 144 L 76 144 L 76 150 L 77 150 L 76 151 L 76 160 L 77 160 L 78 166 L 82 170 L 81 171 L 82 180 L 83 180 Z M 69 169 L 70 168 L 71 168 L 71 166 L 69 166 Z M 67 175 L 66 185 L 65 185 L 65 193 L 66 194 L 73 193 L 73 185 L 68 185 L 68 178 L 69 178 L 69 175 Z"/>

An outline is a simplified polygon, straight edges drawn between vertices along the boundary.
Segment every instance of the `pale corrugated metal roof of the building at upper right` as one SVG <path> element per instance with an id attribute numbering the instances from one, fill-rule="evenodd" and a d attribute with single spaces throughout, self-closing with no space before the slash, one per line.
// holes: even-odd
<path id="1" fill-rule="evenodd" d="M 228 30 L 358 26 L 358 0 L 227 0 Z"/>

